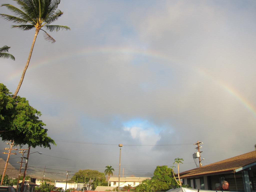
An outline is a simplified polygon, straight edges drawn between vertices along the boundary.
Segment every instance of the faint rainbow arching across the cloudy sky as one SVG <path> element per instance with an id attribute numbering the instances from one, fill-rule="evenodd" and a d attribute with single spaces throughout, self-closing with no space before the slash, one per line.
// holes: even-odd
<path id="1" fill-rule="evenodd" d="M 70 59 L 70 58 L 76 58 L 76 57 L 81 57 L 81 56 L 85 56 L 85 55 L 100 55 L 100 54 L 120 54 L 120 55 L 123 54 L 123 55 L 128 55 L 128 56 L 145 56 L 145 57 L 149 57 L 149 58 L 155 58 L 155 59 L 160 59 L 160 60 L 166 61 L 175 67 L 182 66 L 182 65 L 177 65 L 177 62 L 174 61 L 175 59 L 170 58 L 169 56 L 164 55 L 157 51 L 147 50 L 147 49 L 134 49 L 132 47 L 105 46 L 105 47 L 86 48 L 86 49 L 82 49 L 78 52 L 74 52 L 72 54 L 70 54 L 69 52 L 63 53 L 55 58 L 47 58 L 47 59 L 37 63 L 37 65 L 34 65 L 34 63 L 30 63 L 30 66 L 28 67 L 27 72 L 34 71 L 41 67 L 50 65 L 51 63 L 64 61 L 64 60 Z M 32 57 L 33 57 L 33 55 L 32 55 Z M 188 68 L 188 66 L 186 66 L 186 68 Z M 256 118 L 256 109 L 253 106 L 253 104 L 250 103 L 237 90 L 232 88 L 227 83 L 221 82 L 221 81 L 215 79 L 214 77 L 212 77 L 209 73 L 207 73 L 203 69 L 190 68 L 190 70 L 204 78 L 207 78 L 212 83 L 215 83 L 216 85 L 218 85 L 218 87 L 220 87 L 220 89 L 222 89 L 223 91 L 228 93 L 230 96 L 235 98 L 239 103 L 241 103 L 254 116 L 254 118 Z M 10 76 L 8 78 L 8 81 L 12 81 L 13 79 L 20 78 L 21 73 L 22 73 L 22 71 L 13 74 L 12 76 Z"/>

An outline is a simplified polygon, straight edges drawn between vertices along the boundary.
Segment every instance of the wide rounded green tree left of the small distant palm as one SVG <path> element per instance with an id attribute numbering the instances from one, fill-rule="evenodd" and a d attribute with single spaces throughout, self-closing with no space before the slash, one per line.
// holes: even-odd
<path id="1" fill-rule="evenodd" d="M 104 173 L 90 169 L 79 170 L 78 172 L 76 172 L 71 178 L 71 182 L 88 183 L 90 179 L 94 180 L 93 183 L 95 184 L 102 184 L 106 182 L 106 177 Z"/>

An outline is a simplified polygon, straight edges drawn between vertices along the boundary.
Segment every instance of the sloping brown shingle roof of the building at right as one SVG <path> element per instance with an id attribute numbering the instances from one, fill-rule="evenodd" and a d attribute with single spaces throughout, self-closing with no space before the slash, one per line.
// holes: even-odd
<path id="1" fill-rule="evenodd" d="M 191 169 L 180 173 L 180 178 L 190 178 L 204 175 L 216 175 L 222 173 L 234 173 L 256 165 L 256 151 L 231 157 L 216 163 Z M 175 175 L 177 176 L 177 174 Z"/>

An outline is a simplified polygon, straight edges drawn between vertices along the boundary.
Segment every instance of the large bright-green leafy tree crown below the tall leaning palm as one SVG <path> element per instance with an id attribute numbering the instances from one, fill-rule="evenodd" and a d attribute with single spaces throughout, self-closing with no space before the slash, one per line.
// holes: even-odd
<path id="1" fill-rule="evenodd" d="M 0 137 L 3 141 L 14 141 L 18 145 L 51 148 L 54 140 L 47 136 L 47 129 L 37 111 L 29 105 L 26 98 L 12 98 L 11 92 L 0 83 Z"/>

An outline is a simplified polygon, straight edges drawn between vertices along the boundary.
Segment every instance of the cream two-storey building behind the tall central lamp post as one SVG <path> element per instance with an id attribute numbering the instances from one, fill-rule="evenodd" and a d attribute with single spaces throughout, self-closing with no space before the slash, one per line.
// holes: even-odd
<path id="1" fill-rule="evenodd" d="M 151 179 L 151 177 L 120 177 L 120 187 L 131 185 L 136 187 L 140 185 L 143 180 Z M 110 177 L 111 187 L 118 187 L 118 177 Z"/>

